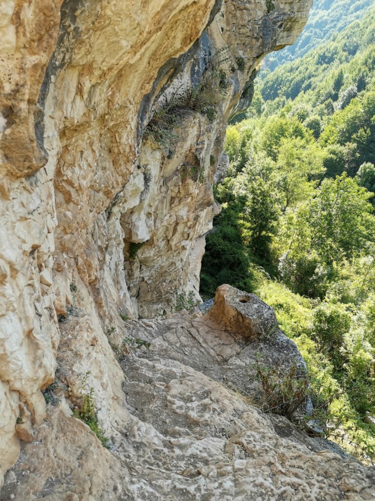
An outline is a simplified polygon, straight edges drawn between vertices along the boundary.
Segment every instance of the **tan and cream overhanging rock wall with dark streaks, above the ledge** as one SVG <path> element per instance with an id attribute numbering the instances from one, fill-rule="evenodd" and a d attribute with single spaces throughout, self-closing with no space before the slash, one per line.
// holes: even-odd
<path id="1" fill-rule="evenodd" d="M 227 119 L 248 104 L 262 56 L 295 40 L 310 4 L 1 3 L 0 472 L 44 416 L 59 320 L 84 313 L 76 373 L 66 374 L 74 393 L 95 367 L 115 381 L 105 334 L 120 342 L 120 314 L 153 317 L 190 291 L 197 298 Z M 173 151 L 146 139 L 155 109 L 173 89 L 196 88 L 218 51 L 227 82 L 215 116 L 181 113 Z"/>

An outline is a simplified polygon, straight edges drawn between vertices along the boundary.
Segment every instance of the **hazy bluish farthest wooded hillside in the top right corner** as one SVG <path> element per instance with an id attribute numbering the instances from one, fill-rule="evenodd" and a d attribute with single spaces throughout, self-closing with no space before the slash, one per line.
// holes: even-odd
<path id="1" fill-rule="evenodd" d="M 261 77 L 277 66 L 304 56 L 310 49 L 329 40 L 353 21 L 361 19 L 373 0 L 314 0 L 308 22 L 297 42 L 267 56 Z"/>

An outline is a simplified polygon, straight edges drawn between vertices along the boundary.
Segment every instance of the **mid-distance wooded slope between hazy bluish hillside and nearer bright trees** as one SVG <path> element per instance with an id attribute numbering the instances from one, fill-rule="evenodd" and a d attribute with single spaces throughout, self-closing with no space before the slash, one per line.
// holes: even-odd
<path id="1" fill-rule="evenodd" d="M 288 99 L 319 106 L 327 101 L 336 103 L 340 94 L 352 86 L 355 93 L 372 86 L 374 26 L 375 11 L 371 11 L 302 58 L 277 68 L 257 84 L 262 99 L 273 111 L 282 108 Z"/>

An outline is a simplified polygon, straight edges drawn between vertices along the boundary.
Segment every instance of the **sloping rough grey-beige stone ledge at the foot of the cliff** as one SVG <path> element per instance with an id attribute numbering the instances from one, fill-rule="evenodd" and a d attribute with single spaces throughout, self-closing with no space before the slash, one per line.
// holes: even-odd
<path id="1" fill-rule="evenodd" d="M 257 337 L 223 328 L 226 299 L 231 309 L 237 303 L 250 329 L 256 323 Z M 106 367 L 95 363 L 100 343 L 80 315 L 75 311 L 63 324 L 47 417 L 7 472 L 1 501 L 373 498 L 374 468 L 252 405 L 259 354 L 270 367 L 300 361 L 296 349 L 285 349 L 289 340 L 277 341 L 277 324 L 267 332 L 273 312 L 256 296 L 224 286 L 205 316 L 125 321 L 126 350 L 118 364 L 105 353 Z M 87 384 L 100 381 L 94 398 L 110 451 L 66 404 L 82 357 L 92 367 Z"/>

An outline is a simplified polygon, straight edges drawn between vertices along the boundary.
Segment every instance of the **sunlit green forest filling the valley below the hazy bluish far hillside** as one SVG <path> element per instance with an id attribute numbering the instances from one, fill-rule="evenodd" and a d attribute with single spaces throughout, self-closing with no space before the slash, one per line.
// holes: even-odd
<path id="1" fill-rule="evenodd" d="M 375 451 L 374 26 L 372 12 L 257 84 L 227 130 L 201 272 L 203 298 L 229 283 L 275 309 L 327 436 L 365 460 Z"/>

